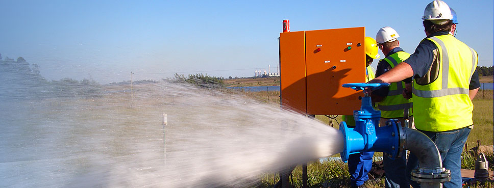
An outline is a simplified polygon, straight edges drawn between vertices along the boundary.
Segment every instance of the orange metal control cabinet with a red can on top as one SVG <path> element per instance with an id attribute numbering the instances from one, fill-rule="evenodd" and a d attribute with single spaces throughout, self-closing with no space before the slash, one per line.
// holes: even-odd
<path id="1" fill-rule="evenodd" d="M 281 105 L 302 114 L 352 115 L 365 82 L 365 28 L 280 34 Z"/>

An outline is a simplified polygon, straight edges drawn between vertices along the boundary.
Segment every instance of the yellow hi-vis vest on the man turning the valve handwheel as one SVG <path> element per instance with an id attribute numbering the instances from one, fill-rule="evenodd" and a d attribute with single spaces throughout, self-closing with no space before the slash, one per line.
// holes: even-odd
<path id="1" fill-rule="evenodd" d="M 447 131 L 473 124 L 474 105 L 468 86 L 477 67 L 477 52 L 452 35 L 424 40 L 438 48 L 439 74 L 430 84 L 413 84 L 415 127 L 426 131 Z"/>

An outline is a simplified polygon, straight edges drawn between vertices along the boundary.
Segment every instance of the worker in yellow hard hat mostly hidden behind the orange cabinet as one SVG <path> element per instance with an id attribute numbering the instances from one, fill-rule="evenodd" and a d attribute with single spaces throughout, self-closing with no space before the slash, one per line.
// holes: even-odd
<path id="1" fill-rule="evenodd" d="M 374 69 L 370 66 L 374 59 L 379 58 L 377 42 L 372 37 L 364 38 L 365 47 L 365 82 L 374 79 Z M 353 116 L 342 116 L 343 121 L 349 127 L 355 127 Z M 348 171 L 352 187 L 365 187 L 364 182 L 369 179 L 367 173 L 372 169 L 372 157 L 374 152 L 360 152 L 351 154 L 348 157 Z"/>

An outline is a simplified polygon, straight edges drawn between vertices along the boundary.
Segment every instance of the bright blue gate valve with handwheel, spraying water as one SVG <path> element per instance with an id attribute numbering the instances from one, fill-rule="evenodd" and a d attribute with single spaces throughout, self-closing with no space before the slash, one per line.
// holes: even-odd
<path id="1" fill-rule="evenodd" d="M 359 91 L 365 88 L 375 90 L 389 85 L 389 83 L 352 83 L 343 84 L 342 86 Z M 348 161 L 350 154 L 365 151 L 385 152 L 392 159 L 398 156 L 400 153 L 399 150 L 402 149 L 400 147 L 400 132 L 403 132 L 400 130 L 401 123 L 398 120 L 388 120 L 386 125 L 381 125 L 380 127 L 381 111 L 374 110 L 372 101 L 367 93 L 362 97 L 360 110 L 353 111 L 353 116 L 355 119 L 355 128 L 348 127 L 344 121 L 339 125 L 339 130 L 343 133 L 345 139 L 344 149 L 340 153 L 343 162 Z"/>

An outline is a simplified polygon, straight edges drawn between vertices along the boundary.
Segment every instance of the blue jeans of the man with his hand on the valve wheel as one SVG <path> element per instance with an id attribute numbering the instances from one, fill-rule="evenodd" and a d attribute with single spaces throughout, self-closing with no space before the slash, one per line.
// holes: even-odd
<path id="1" fill-rule="evenodd" d="M 442 158 L 442 167 L 451 171 L 451 181 L 445 182 L 444 187 L 461 187 L 461 152 L 463 151 L 463 145 L 468 138 L 468 134 L 470 134 L 470 130 L 467 127 L 442 132 L 421 130 L 434 141 L 437 149 L 439 149 Z M 418 159 L 413 153 L 410 153 L 406 172 L 410 185 L 415 188 L 420 187 L 420 185 L 410 180 L 410 172 L 416 168 L 418 168 Z"/>

